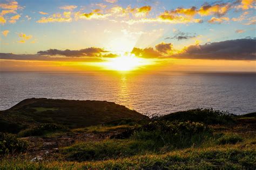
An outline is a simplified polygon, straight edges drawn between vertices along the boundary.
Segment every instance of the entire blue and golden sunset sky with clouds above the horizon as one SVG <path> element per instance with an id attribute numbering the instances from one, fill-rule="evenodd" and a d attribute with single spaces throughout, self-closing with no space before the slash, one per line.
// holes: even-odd
<path id="1" fill-rule="evenodd" d="M 0 1 L 0 71 L 256 72 L 255 0 Z"/>

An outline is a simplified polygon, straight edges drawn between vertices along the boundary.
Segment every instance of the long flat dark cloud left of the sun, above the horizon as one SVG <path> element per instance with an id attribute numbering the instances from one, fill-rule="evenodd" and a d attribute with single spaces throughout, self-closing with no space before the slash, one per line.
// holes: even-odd
<path id="1" fill-rule="evenodd" d="M 102 48 L 90 47 L 84 48 L 80 50 L 59 50 L 59 49 L 48 49 L 46 51 L 39 51 L 37 54 L 39 55 L 63 55 L 63 56 L 70 56 L 70 57 L 79 57 L 79 56 L 102 56 L 102 53 L 106 53 L 108 51 L 104 51 Z"/>

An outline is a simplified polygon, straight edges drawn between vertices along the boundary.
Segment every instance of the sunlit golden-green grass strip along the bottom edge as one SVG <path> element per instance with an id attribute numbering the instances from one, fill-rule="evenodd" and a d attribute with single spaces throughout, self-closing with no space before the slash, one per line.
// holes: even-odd
<path id="1" fill-rule="evenodd" d="M 255 141 L 219 147 L 188 148 L 166 154 L 147 154 L 124 159 L 104 161 L 42 161 L 30 162 L 22 159 L 3 159 L 1 169 L 255 169 Z"/>

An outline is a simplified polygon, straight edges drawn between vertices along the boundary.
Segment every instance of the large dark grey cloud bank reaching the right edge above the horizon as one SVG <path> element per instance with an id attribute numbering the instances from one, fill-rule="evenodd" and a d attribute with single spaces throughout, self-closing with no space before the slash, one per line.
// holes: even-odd
<path id="1" fill-rule="evenodd" d="M 235 39 L 185 47 L 171 58 L 256 60 L 256 39 Z"/>

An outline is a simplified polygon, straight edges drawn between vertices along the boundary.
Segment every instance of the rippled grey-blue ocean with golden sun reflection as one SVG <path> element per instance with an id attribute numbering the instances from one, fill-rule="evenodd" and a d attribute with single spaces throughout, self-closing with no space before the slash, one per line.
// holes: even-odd
<path id="1" fill-rule="evenodd" d="M 256 111 L 256 73 L 2 72 L 0 110 L 25 98 L 115 102 L 144 114 L 213 108 Z"/>

